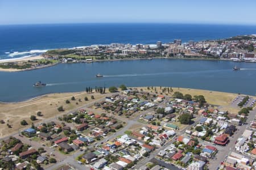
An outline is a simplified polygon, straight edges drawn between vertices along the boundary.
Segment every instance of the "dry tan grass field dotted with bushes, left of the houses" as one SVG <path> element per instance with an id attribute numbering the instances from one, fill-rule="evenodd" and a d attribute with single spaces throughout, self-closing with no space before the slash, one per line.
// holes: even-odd
<path id="1" fill-rule="evenodd" d="M 90 96 L 94 96 L 94 100 L 90 99 Z M 75 96 L 76 100 L 71 100 L 71 97 Z M 84 100 L 84 97 L 88 97 L 88 101 Z M 0 120 L 4 120 L 5 124 L 0 124 L 0 137 L 10 135 L 20 128 L 25 126 L 20 125 L 20 121 L 26 120 L 28 126 L 31 126 L 32 122 L 44 121 L 47 118 L 58 116 L 63 112 L 57 111 L 57 108 L 63 106 L 64 113 L 72 111 L 75 108 L 82 107 L 85 104 L 93 103 L 93 101 L 105 97 L 98 93 L 87 94 L 86 92 L 76 93 L 62 93 L 62 94 L 49 94 L 38 97 L 36 99 L 20 102 L 20 103 L 1 103 L 0 104 Z M 79 101 L 79 99 L 81 101 Z M 65 101 L 69 100 L 70 104 L 66 104 Z M 37 112 L 42 112 L 43 116 L 37 116 Z M 30 116 L 36 116 L 36 121 L 31 121 Z M 7 123 L 12 128 L 7 127 Z"/>

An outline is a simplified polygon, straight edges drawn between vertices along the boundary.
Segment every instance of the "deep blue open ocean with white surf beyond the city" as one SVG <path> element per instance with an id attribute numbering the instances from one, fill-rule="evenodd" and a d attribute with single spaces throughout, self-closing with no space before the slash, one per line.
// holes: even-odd
<path id="1" fill-rule="evenodd" d="M 251 25 L 86 23 L 0 25 L 0 59 L 33 56 L 47 49 L 112 42 L 155 44 L 221 39 L 256 33 Z"/>

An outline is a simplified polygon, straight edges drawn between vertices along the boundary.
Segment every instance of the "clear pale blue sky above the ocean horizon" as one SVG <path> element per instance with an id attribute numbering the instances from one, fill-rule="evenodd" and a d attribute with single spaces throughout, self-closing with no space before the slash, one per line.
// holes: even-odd
<path id="1" fill-rule="evenodd" d="M 206 23 L 256 25 L 255 0 L 0 0 L 0 24 Z"/>

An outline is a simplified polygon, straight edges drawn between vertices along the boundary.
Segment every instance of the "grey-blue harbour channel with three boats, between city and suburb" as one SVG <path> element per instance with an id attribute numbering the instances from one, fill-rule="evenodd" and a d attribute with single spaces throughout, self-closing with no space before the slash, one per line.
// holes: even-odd
<path id="1" fill-rule="evenodd" d="M 241 68 L 233 71 L 234 66 Z M 96 78 L 96 74 L 104 75 Z M 142 59 L 94 63 L 62 63 L 45 69 L 0 72 L 0 101 L 23 101 L 86 87 L 168 86 L 255 95 L 256 64 L 190 59 Z M 33 87 L 41 80 L 45 87 Z"/>

